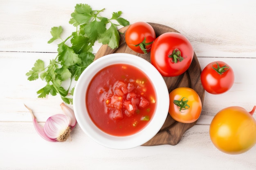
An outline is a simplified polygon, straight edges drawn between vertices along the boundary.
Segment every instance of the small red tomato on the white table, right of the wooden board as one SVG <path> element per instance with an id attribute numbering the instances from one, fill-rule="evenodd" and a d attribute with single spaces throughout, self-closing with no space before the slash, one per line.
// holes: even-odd
<path id="1" fill-rule="evenodd" d="M 201 73 L 204 90 L 211 94 L 221 94 L 228 91 L 234 84 L 234 71 L 225 62 L 209 63 Z"/>

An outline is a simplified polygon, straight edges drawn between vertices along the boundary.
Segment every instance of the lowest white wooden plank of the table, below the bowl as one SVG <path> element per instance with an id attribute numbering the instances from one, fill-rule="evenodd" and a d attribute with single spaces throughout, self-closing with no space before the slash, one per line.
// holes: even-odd
<path id="1" fill-rule="evenodd" d="M 1 170 L 255 170 L 256 147 L 243 155 L 219 152 L 209 138 L 207 125 L 195 125 L 176 146 L 139 146 L 128 150 L 103 147 L 76 126 L 70 140 L 42 140 L 32 122 L 0 124 Z M 7 140 L 8 139 L 8 140 Z M 181 160 L 182 159 L 182 160 Z M 186 161 L 186 163 L 184 163 Z M 182 163 L 183 162 L 183 163 Z"/>

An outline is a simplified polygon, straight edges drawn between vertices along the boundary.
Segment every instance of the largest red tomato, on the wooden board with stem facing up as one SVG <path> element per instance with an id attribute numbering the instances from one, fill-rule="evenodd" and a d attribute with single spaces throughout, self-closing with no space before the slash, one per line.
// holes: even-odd
<path id="1" fill-rule="evenodd" d="M 194 51 L 189 40 L 181 33 L 168 32 L 153 42 L 150 60 L 162 76 L 181 75 L 190 66 Z"/>

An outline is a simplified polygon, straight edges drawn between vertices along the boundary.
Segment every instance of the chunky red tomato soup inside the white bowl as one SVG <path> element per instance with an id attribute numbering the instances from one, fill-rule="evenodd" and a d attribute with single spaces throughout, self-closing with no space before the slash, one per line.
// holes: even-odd
<path id="1" fill-rule="evenodd" d="M 88 86 L 85 101 L 94 124 L 114 136 L 143 129 L 157 102 L 150 79 L 128 64 L 113 64 L 99 71 Z"/>

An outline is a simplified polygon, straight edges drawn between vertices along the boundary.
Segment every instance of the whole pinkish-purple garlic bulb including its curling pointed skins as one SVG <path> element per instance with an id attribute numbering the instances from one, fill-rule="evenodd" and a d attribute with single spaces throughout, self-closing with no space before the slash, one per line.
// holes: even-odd
<path id="1" fill-rule="evenodd" d="M 25 105 L 25 104 L 24 104 Z M 51 142 L 66 141 L 70 136 L 70 132 L 76 126 L 76 117 L 74 111 L 66 106 L 64 103 L 61 104 L 63 114 L 57 114 L 49 117 L 45 121 L 45 126 L 42 127 L 36 121 L 36 117 L 32 110 L 25 105 L 32 115 L 33 124 L 38 134 L 45 140 Z"/>

